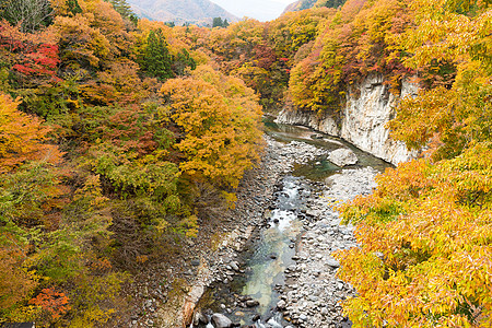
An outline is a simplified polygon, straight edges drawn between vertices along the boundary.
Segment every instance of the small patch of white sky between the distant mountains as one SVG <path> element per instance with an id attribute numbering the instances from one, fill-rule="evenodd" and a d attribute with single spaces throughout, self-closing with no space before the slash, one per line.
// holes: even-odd
<path id="1" fill-rule="evenodd" d="M 261 22 L 280 16 L 295 0 L 210 0 L 239 19 L 248 16 Z"/>

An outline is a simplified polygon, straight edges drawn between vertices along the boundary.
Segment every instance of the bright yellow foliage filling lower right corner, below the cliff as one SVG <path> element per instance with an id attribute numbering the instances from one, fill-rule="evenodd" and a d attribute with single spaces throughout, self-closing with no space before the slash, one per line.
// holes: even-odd
<path id="1" fill-rule="evenodd" d="M 477 144 L 436 165 L 400 165 L 344 207 L 362 244 L 338 254 L 359 292 L 344 305 L 355 325 L 491 324 L 490 155 Z"/>

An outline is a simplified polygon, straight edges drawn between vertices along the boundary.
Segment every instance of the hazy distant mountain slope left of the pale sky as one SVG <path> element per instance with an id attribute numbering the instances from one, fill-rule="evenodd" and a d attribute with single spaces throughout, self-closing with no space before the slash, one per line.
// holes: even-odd
<path id="1" fill-rule="evenodd" d="M 213 17 L 237 22 L 238 19 L 209 0 L 128 0 L 131 9 L 140 17 L 153 21 L 211 24 Z"/>

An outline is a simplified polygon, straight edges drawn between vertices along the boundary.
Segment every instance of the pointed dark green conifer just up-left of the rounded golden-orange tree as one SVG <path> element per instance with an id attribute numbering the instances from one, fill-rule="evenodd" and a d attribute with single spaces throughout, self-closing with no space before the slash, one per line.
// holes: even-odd
<path id="1" fill-rule="evenodd" d="M 174 78 L 172 70 L 172 56 L 167 49 L 167 43 L 162 31 L 151 31 L 147 38 L 147 47 L 143 52 L 143 70 L 151 77 L 161 81 Z"/>

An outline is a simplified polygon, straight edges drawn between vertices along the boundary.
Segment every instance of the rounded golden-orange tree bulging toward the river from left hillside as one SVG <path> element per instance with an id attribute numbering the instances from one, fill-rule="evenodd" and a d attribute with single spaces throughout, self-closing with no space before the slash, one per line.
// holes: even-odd
<path id="1" fill-rule="evenodd" d="M 258 160 L 261 112 L 253 90 L 204 66 L 189 78 L 169 80 L 161 92 L 168 97 L 165 115 L 183 133 L 176 149 L 186 160 L 179 168 L 237 187 Z"/>

